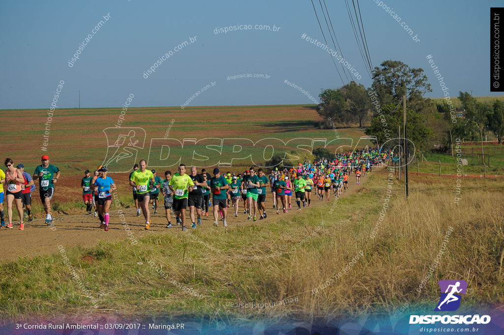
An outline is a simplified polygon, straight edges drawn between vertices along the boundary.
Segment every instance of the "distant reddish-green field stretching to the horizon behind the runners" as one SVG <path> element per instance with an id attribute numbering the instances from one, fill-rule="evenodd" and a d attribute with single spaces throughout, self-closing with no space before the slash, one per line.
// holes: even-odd
<path id="1" fill-rule="evenodd" d="M 12 129 L 12 136 L 3 139 L 3 143 L 5 143 L 4 155 L 11 157 L 16 163 L 22 162 L 25 165 L 25 170 L 31 173 L 35 166 L 40 164 L 40 156 L 48 154 L 51 163 L 57 165 L 64 176 L 80 175 L 84 170 L 92 170 L 105 160 L 107 136 L 103 130 L 115 127 L 119 116 L 121 116 L 120 111 L 120 108 L 56 109 L 49 128 L 45 125 L 47 123 L 46 110 L 17 111 L 15 118 L 6 117 L 4 122 L 7 125 L 21 122 L 28 125 L 29 129 Z M 5 112 L 6 115 L 14 115 L 10 111 Z M 151 165 L 155 165 L 156 160 L 159 161 L 160 157 L 156 154 L 161 152 L 161 144 L 163 144 L 159 141 L 155 142 L 152 153 L 149 153 L 151 139 L 164 138 L 168 130 L 167 137 L 177 139 L 180 142 L 184 138 L 197 140 L 246 138 L 254 142 L 265 138 L 277 138 L 284 142 L 296 138 L 325 138 L 328 141 L 335 139 L 333 130 L 314 128 L 314 125 L 322 119 L 309 105 L 187 107 L 183 110 L 179 107 L 144 107 L 130 108 L 121 117 L 124 121 L 120 124 L 122 129 L 118 129 L 118 132 L 124 131 L 125 135 L 128 135 L 127 128 L 129 127 L 145 130 L 145 144 L 143 149 L 139 149 L 137 162 L 142 158 L 149 157 Z M 48 136 L 47 151 L 42 151 L 43 136 L 46 131 L 49 133 L 45 135 Z M 111 132 L 115 137 L 109 139 L 110 145 L 113 144 L 118 134 L 115 129 Z M 353 148 L 359 138 L 364 136 L 363 132 L 364 129 L 361 128 L 340 129 L 339 136 L 353 139 L 353 143 L 341 141 L 344 144 L 352 145 Z M 144 138 L 138 137 L 140 133 L 141 131 L 136 138 L 143 143 Z M 23 147 L 27 150 L 19 150 L 19 143 L 17 143 L 19 138 L 23 139 Z M 317 142 L 314 148 L 321 143 Z M 187 165 L 193 162 L 193 151 L 196 150 L 198 153 L 205 149 L 203 146 L 187 147 L 189 144 L 191 143 L 185 143 L 183 150 L 176 147 L 170 148 L 173 155 L 182 153 L 182 162 Z M 301 152 L 300 158 L 303 160 L 308 158 L 306 151 L 296 149 L 292 144 L 285 147 L 288 153 L 291 150 L 296 150 Z M 300 142 L 299 144 L 306 143 Z M 369 141 L 361 141 L 359 147 L 371 144 Z M 127 145 L 124 144 L 124 146 Z M 221 156 L 221 161 L 230 161 L 230 158 L 237 157 L 236 154 L 233 154 L 233 147 L 234 145 L 229 143 L 222 149 L 222 153 L 215 150 L 206 150 L 205 152 L 210 153 L 212 157 Z M 250 147 L 243 145 L 243 151 L 249 153 Z M 163 151 L 163 156 L 166 152 Z M 259 160 L 264 161 L 265 159 L 261 157 Z M 250 166 L 250 164 L 249 159 L 246 162 L 233 162 L 233 166 L 240 167 L 240 169 Z M 128 161 L 127 165 L 128 169 L 131 169 L 130 165 L 133 163 L 130 164 Z"/>

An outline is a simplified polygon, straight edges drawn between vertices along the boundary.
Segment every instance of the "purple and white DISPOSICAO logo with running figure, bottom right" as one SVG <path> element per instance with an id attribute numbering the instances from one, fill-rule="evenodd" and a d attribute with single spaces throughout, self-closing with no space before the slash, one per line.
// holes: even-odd
<path id="1" fill-rule="evenodd" d="M 441 297 L 434 311 L 455 311 L 460 307 L 462 300 L 461 294 L 466 294 L 467 282 L 465 281 L 439 281 L 437 282 L 441 289 Z M 444 293 L 443 293 L 444 292 Z M 441 323 L 452 324 L 486 324 L 490 322 L 489 315 L 411 315 L 409 323 Z"/>

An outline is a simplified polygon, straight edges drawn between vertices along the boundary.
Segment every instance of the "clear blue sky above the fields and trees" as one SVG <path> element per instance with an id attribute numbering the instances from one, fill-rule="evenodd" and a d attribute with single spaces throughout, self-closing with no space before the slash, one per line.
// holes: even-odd
<path id="1" fill-rule="evenodd" d="M 442 91 L 425 58 L 431 54 L 452 96 L 471 90 L 498 94 L 490 92 L 488 55 L 490 7 L 500 2 L 383 3 L 420 42 L 374 0 L 361 0 L 373 67 L 392 59 L 423 68 L 433 90 L 427 96 L 439 97 Z M 370 86 L 344 2 L 326 4 L 345 59 L 362 76 L 356 81 Z M 81 42 L 108 13 L 110 19 L 69 67 Z M 327 33 L 323 18 L 321 23 Z M 234 25 L 280 30 L 214 33 Z M 65 82 L 57 102 L 61 108 L 78 106 L 79 90 L 86 108 L 119 107 L 130 94 L 134 107 L 179 106 L 198 91 L 188 105 L 258 105 L 312 103 L 284 80 L 316 97 L 321 88 L 343 85 L 331 55 L 301 39 L 305 33 L 323 41 L 311 1 L 4 1 L 0 26 L 0 109 L 46 108 L 60 80 Z M 143 73 L 170 50 L 173 54 L 145 79 Z M 227 80 L 240 74 L 270 77 Z"/>

